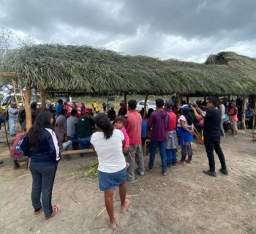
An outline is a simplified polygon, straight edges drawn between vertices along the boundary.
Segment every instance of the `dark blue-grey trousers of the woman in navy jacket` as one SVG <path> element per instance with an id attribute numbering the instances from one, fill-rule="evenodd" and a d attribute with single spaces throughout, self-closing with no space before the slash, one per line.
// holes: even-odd
<path id="1" fill-rule="evenodd" d="M 30 165 L 29 169 L 33 179 L 31 191 L 32 205 L 35 211 L 37 211 L 42 206 L 45 212 L 45 216 L 48 217 L 53 213 L 51 197 L 57 165 L 45 167 Z"/>

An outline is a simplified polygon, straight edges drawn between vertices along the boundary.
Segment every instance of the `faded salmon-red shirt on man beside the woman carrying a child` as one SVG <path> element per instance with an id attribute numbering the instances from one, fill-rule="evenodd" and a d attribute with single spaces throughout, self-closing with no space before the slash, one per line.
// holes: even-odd
<path id="1" fill-rule="evenodd" d="M 141 116 L 136 110 L 129 110 L 126 117 L 129 144 L 138 146 L 141 144 Z"/>

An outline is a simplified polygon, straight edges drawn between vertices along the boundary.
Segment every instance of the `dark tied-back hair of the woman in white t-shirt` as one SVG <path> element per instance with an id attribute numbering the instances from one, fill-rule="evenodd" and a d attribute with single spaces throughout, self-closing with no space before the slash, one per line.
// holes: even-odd
<path id="1" fill-rule="evenodd" d="M 110 121 L 108 119 L 108 116 L 105 115 L 105 113 L 99 113 L 94 118 L 95 124 L 99 129 L 102 129 L 104 133 L 104 138 L 108 140 L 113 135 L 114 127 L 112 124 L 110 124 Z"/>

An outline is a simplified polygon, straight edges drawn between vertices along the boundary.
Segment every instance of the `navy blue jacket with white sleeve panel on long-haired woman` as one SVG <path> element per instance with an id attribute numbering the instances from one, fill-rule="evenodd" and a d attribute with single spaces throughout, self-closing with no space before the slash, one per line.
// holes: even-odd
<path id="1" fill-rule="evenodd" d="M 39 140 L 37 151 L 29 150 L 26 137 L 20 146 L 23 154 L 31 158 L 31 166 L 57 165 L 61 159 L 58 139 L 53 129 L 45 128 Z"/>

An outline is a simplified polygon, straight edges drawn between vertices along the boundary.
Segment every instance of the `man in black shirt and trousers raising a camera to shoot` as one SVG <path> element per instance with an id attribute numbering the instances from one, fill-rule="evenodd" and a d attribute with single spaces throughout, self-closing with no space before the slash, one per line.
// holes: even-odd
<path id="1" fill-rule="evenodd" d="M 220 147 L 220 121 L 222 112 L 217 108 L 217 99 L 215 97 L 208 97 L 206 99 L 206 105 L 208 107 L 206 111 L 201 110 L 197 105 L 196 107 L 191 107 L 198 121 L 204 118 L 203 137 L 210 168 L 209 170 L 203 170 L 203 173 L 206 173 L 208 176 L 216 177 L 214 161 L 215 151 L 219 156 L 219 162 L 222 165 L 219 171 L 228 175 L 225 156 Z"/>

